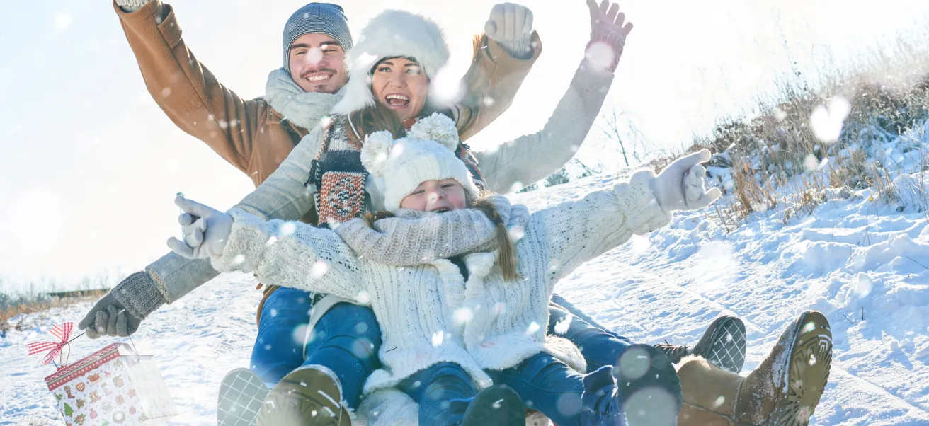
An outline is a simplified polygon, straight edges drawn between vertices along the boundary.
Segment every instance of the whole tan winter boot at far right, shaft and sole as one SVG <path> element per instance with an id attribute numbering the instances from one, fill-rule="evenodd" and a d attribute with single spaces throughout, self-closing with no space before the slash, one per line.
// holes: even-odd
<path id="1" fill-rule="evenodd" d="M 818 312 L 806 312 L 748 377 L 701 359 L 677 374 L 684 391 L 679 425 L 805 426 L 829 379 L 832 333 Z"/>

